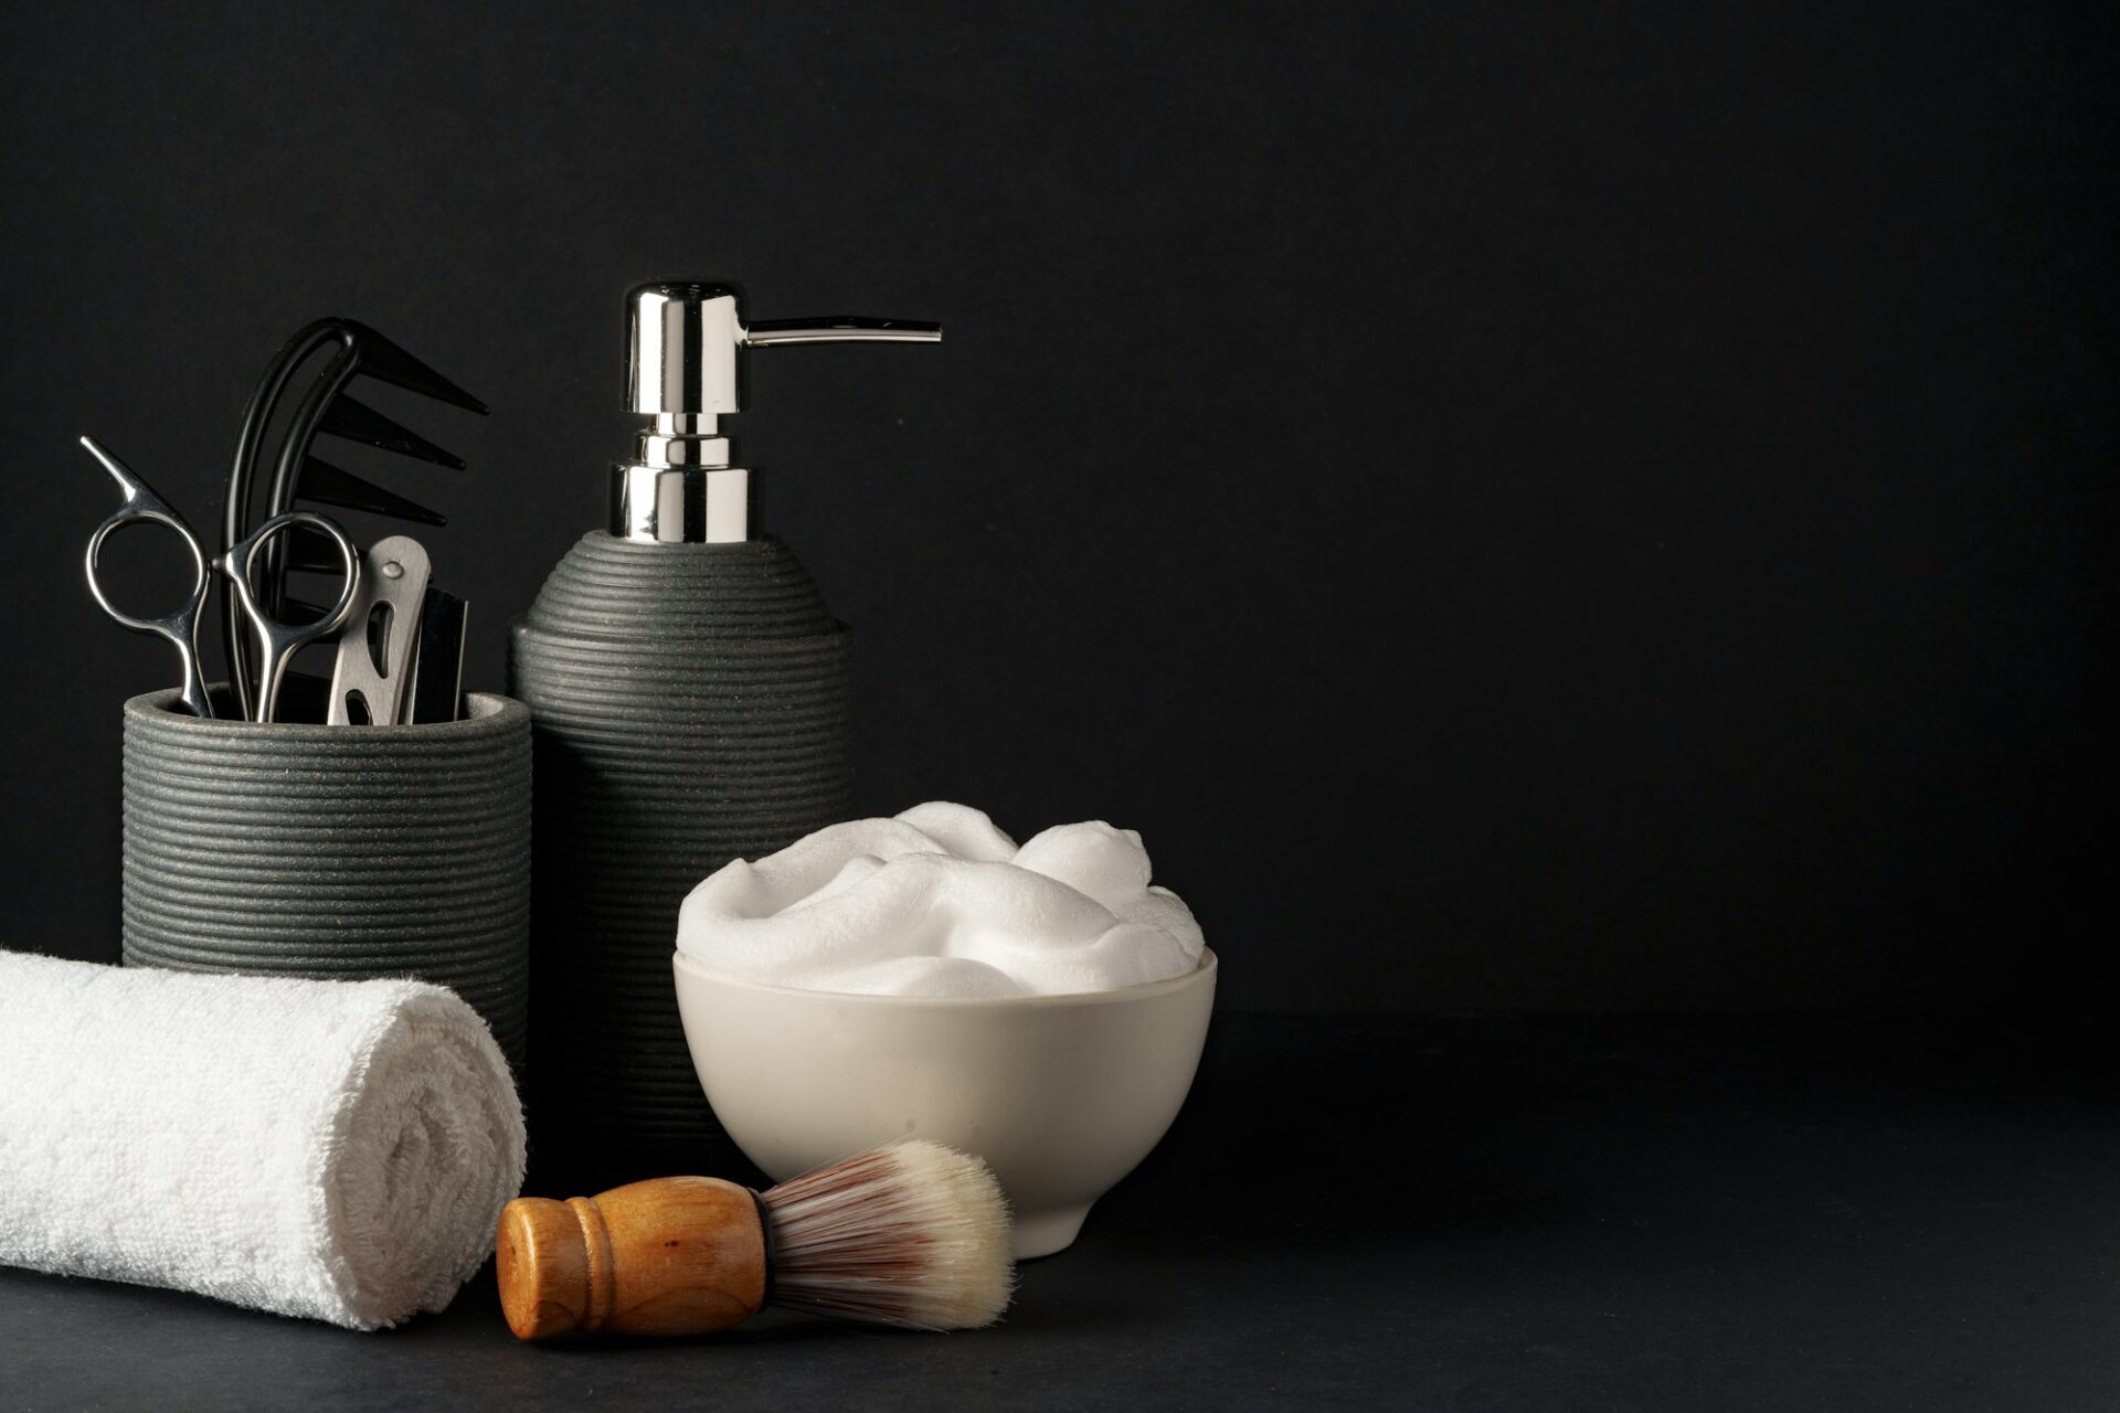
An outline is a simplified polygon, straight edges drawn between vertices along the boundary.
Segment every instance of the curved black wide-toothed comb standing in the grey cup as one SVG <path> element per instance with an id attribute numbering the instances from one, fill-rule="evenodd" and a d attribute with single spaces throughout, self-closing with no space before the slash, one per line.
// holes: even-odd
<path id="1" fill-rule="evenodd" d="M 435 398 L 437 403 L 462 407 L 481 417 L 485 415 L 485 403 L 367 324 L 346 318 L 324 318 L 307 324 L 286 341 L 271 366 L 265 369 L 257 392 L 250 394 L 250 405 L 244 409 L 242 434 L 235 441 L 235 462 L 229 468 L 229 498 L 220 525 L 223 544 L 237 544 L 250 532 L 250 489 L 265 464 L 265 432 L 288 392 L 288 383 L 303 362 L 331 345 L 337 345 L 337 352 L 303 394 L 286 430 L 286 441 L 280 445 L 280 453 L 271 458 L 273 470 L 265 515 L 278 517 L 290 511 L 295 500 L 314 500 L 422 525 L 443 523 L 441 515 L 420 502 L 310 455 L 310 445 L 318 434 L 339 436 L 379 451 L 394 451 L 462 470 L 462 458 L 399 426 L 375 409 L 356 403 L 346 394 L 346 388 L 354 377 L 373 377 L 394 388 Z M 257 576 L 248 580 L 252 595 L 263 600 L 273 614 L 282 614 L 288 608 L 288 570 L 337 572 L 337 561 L 326 542 L 310 536 L 290 534 L 273 542 L 257 564 Z M 259 672 L 242 631 L 242 614 L 244 608 L 237 604 L 237 595 L 231 593 L 223 616 L 229 648 L 229 682 L 235 686 L 244 714 L 250 714 Z"/>

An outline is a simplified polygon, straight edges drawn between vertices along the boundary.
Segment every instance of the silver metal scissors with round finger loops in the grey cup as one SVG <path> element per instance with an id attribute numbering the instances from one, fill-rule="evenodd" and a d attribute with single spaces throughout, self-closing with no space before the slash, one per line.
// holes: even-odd
<path id="1" fill-rule="evenodd" d="M 257 695 L 257 720 L 271 720 L 273 710 L 280 705 L 280 682 L 286 678 L 286 665 L 293 657 L 324 638 L 333 638 L 354 612 L 354 600 L 360 597 L 360 551 L 354 542 L 346 538 L 329 517 L 316 511 L 288 511 L 286 515 L 276 515 L 257 527 L 250 538 L 240 540 L 229 547 L 225 555 L 214 557 L 210 564 L 206 551 L 199 547 L 199 536 L 191 532 L 191 525 L 170 508 L 161 496 L 157 496 L 146 481 L 142 481 L 134 470 L 119 458 L 95 445 L 93 436 L 83 436 L 81 445 L 89 449 L 104 470 L 119 483 L 125 494 L 125 504 L 119 506 L 110 519 L 95 527 L 89 536 L 89 593 L 106 614 L 117 619 L 119 627 L 127 627 L 136 633 L 153 633 L 155 638 L 165 638 L 176 646 L 180 659 L 184 659 L 184 686 L 178 693 L 184 708 L 193 716 L 214 716 L 214 703 L 206 693 L 206 674 L 199 669 L 199 616 L 206 612 L 206 593 L 212 589 L 212 570 L 227 576 L 231 589 L 235 591 L 235 602 L 242 606 L 244 619 L 250 625 L 252 638 L 257 638 L 259 648 L 259 695 Z M 167 525 L 184 540 L 184 549 L 191 551 L 193 578 L 191 597 L 163 614 L 161 619 L 136 619 L 125 612 L 104 593 L 104 583 L 98 576 L 95 561 L 104 551 L 104 540 L 110 538 L 112 530 L 125 525 L 155 523 Z M 314 623 L 280 623 L 263 608 L 259 608 L 257 591 L 252 589 L 250 568 L 259 559 L 259 551 L 278 534 L 293 530 L 295 525 L 307 525 L 333 542 L 339 551 L 339 561 L 346 566 L 346 583 L 339 589 L 339 602 L 324 610 Z"/>

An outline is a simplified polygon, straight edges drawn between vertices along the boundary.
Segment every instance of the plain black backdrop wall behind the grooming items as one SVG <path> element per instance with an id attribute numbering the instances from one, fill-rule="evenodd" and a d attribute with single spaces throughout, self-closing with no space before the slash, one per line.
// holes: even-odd
<path id="1" fill-rule="evenodd" d="M 473 684 L 628 447 L 621 292 L 755 360 L 863 807 L 1147 835 L 1238 1008 L 2101 1002 L 2109 6 L 15 6 L 6 945 L 117 955 L 93 430 L 212 534 L 297 324 L 494 407 Z M 373 468 L 373 466 L 371 466 Z M 358 534 L 358 532 L 356 532 Z"/>

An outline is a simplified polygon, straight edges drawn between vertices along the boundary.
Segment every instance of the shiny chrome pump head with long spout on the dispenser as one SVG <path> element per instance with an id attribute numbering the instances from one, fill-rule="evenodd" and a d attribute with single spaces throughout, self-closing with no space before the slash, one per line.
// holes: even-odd
<path id="1" fill-rule="evenodd" d="M 750 538 L 750 472 L 729 464 L 719 419 L 744 409 L 746 347 L 778 343 L 941 343 L 941 324 L 818 318 L 746 324 L 725 284 L 672 280 L 625 294 L 632 320 L 628 407 L 655 419 L 634 460 L 611 468 L 611 534 L 721 544 Z"/>

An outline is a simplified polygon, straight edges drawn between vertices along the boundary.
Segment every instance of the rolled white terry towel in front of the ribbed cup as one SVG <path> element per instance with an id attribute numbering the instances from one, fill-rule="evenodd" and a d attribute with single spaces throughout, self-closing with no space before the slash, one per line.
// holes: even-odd
<path id="1" fill-rule="evenodd" d="M 0 1263 L 373 1330 L 449 1303 L 522 1176 L 443 987 L 0 951 Z"/>

